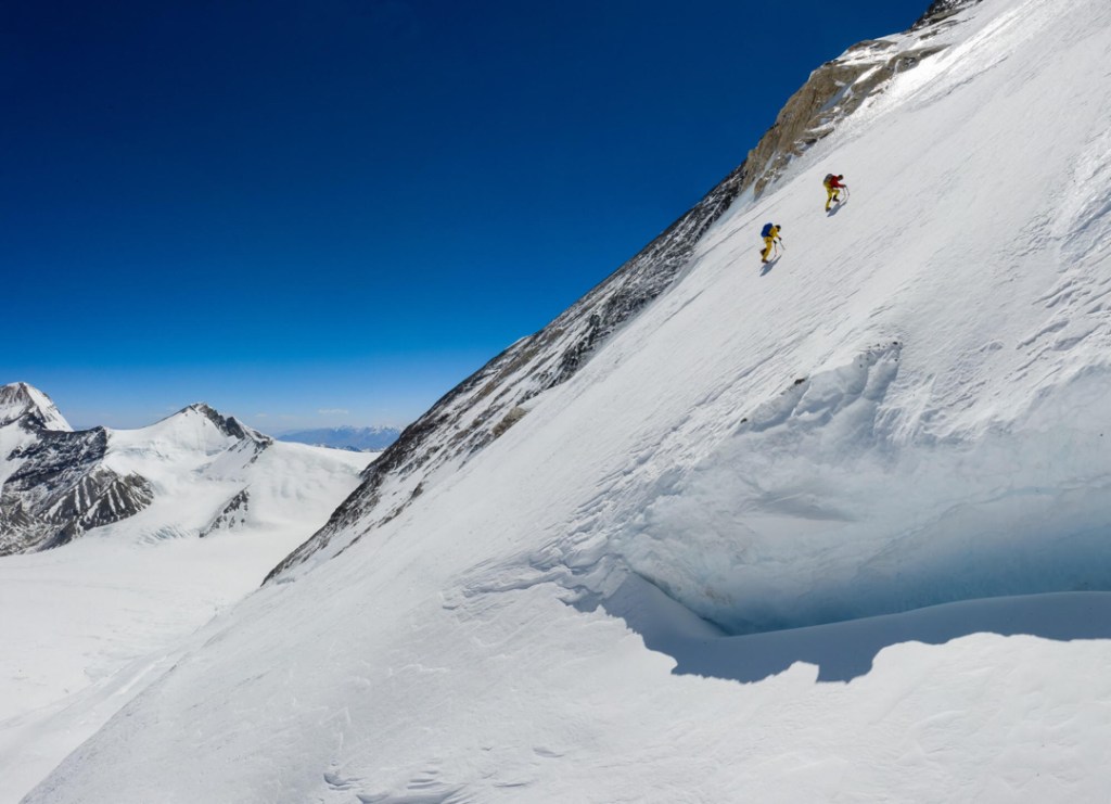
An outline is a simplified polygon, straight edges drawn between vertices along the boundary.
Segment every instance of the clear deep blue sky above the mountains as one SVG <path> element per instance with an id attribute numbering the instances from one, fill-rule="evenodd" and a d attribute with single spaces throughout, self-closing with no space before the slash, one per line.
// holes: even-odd
<path id="1" fill-rule="evenodd" d="M 0 3 L 0 383 L 408 423 L 928 4 Z"/>

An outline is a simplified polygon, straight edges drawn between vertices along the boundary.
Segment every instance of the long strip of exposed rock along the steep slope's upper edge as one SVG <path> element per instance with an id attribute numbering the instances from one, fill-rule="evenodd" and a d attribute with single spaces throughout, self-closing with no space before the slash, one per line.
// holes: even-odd
<path id="1" fill-rule="evenodd" d="M 949 0 L 931 7 L 938 20 L 955 11 Z M 940 8 L 944 6 L 945 8 Z M 923 18 L 927 20 L 927 18 Z M 466 462 L 528 412 L 537 394 L 571 378 L 598 345 L 663 293 L 689 264 L 707 229 L 751 189 L 759 195 L 791 162 L 833 131 L 899 71 L 940 47 L 932 22 L 898 41 L 862 42 L 815 70 L 788 101 L 745 161 L 643 251 L 540 332 L 496 356 L 438 401 L 363 472 L 363 483 L 324 527 L 290 554 L 268 581 L 304 562 L 322 560 L 397 516 L 438 472 Z M 342 535 L 341 535 L 342 534 Z"/>

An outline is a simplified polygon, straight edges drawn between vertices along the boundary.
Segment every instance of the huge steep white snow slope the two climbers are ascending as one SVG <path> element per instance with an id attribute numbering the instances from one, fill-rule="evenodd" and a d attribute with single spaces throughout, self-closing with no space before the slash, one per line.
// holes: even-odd
<path id="1" fill-rule="evenodd" d="M 1111 6 L 961 19 L 27 801 L 1103 800 Z"/>

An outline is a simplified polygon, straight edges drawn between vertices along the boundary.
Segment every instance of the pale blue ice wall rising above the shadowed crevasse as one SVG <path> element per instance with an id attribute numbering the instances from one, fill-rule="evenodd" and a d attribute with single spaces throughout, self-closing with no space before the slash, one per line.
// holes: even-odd
<path id="1" fill-rule="evenodd" d="M 729 633 L 1111 589 L 1107 445 L 1059 419 L 1098 404 L 1111 374 L 973 443 L 898 443 L 878 415 L 889 381 L 819 376 L 817 399 L 762 406 L 609 549 Z"/>

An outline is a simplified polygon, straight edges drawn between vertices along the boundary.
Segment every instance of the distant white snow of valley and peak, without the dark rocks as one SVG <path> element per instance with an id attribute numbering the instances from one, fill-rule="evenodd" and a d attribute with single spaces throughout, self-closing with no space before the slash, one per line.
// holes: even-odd
<path id="1" fill-rule="evenodd" d="M 109 431 L 109 444 L 106 465 L 152 482 L 150 507 L 63 547 L 0 560 L 2 802 L 18 801 L 172 666 L 186 637 L 258 587 L 373 459 L 283 443 L 257 453 L 194 408 Z M 233 526 L 198 539 L 244 485 Z"/>

